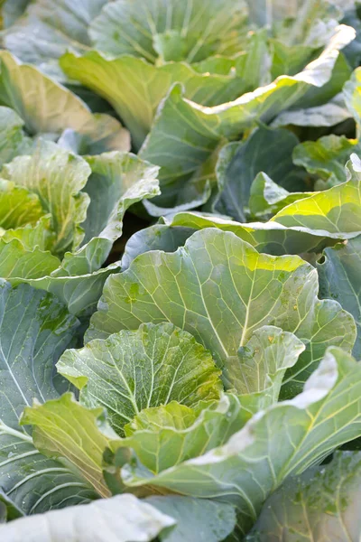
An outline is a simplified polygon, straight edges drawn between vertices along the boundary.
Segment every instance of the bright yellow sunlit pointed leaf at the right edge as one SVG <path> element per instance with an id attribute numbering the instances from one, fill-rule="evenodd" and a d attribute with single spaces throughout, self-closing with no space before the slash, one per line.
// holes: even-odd
<path id="1" fill-rule="evenodd" d="M 361 231 L 361 162 L 352 154 L 347 164 L 347 182 L 309 198 L 295 201 L 280 210 L 271 221 L 287 228 L 298 226 L 331 238 L 354 238 Z"/>

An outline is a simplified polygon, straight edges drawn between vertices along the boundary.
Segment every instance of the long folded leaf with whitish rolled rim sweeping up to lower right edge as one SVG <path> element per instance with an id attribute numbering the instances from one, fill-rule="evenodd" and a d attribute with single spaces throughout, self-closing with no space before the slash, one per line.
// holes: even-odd
<path id="1" fill-rule="evenodd" d="M 236 504 L 239 528 L 246 532 L 286 477 L 360 435 L 360 376 L 355 360 L 330 348 L 301 395 L 259 413 L 227 444 L 157 475 L 134 461 L 123 467 L 123 480 L 133 488 L 217 495 Z"/>

